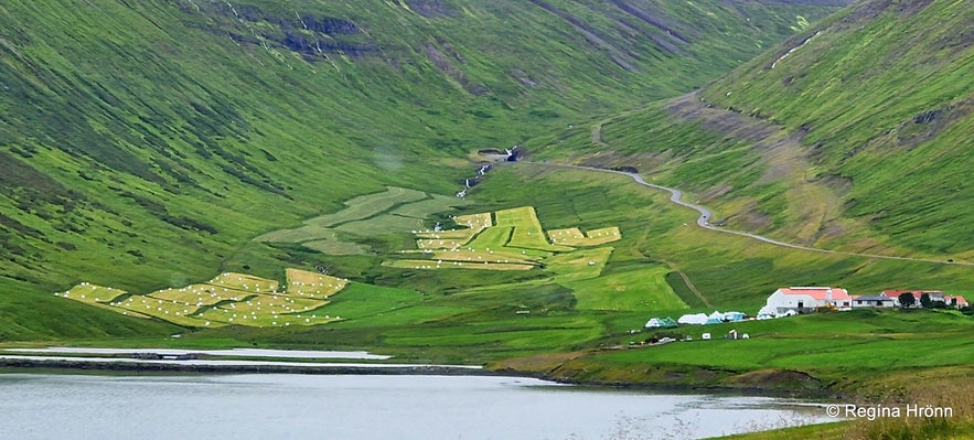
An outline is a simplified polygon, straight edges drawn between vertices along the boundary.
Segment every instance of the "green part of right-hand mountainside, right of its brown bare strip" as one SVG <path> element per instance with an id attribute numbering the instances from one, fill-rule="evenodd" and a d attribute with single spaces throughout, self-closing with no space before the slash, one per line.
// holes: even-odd
<path id="1" fill-rule="evenodd" d="M 715 106 L 801 132 L 843 215 L 921 251 L 971 254 L 974 10 L 870 1 L 707 87 Z"/>

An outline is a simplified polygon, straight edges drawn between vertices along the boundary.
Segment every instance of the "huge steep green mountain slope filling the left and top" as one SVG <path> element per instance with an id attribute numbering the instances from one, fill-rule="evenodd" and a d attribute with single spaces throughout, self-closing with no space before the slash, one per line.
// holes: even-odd
<path id="1" fill-rule="evenodd" d="M 4 2 L 0 292 L 207 279 L 260 233 L 386 184 L 452 193 L 472 150 L 685 93 L 837 3 Z M 303 261 L 263 250 L 258 272 Z"/>

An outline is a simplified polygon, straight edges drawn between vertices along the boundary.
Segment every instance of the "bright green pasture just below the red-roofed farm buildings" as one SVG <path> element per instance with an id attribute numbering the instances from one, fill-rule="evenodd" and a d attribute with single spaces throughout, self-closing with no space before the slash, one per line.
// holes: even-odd
<path id="1" fill-rule="evenodd" d="M 749 340 L 723 340 L 730 330 Z M 665 364 L 749 371 L 921 368 L 974 363 L 974 320 L 936 311 L 859 310 L 717 325 L 679 326 L 693 342 L 596 357 L 610 364 Z M 703 333 L 715 340 L 703 341 Z"/>

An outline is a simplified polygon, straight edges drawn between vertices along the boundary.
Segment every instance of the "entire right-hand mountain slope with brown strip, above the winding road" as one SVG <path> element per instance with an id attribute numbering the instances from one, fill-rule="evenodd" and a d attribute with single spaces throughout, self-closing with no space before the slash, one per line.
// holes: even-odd
<path id="1" fill-rule="evenodd" d="M 971 7 L 866 1 L 697 94 L 559 140 L 696 192 L 734 228 L 971 259 Z"/>

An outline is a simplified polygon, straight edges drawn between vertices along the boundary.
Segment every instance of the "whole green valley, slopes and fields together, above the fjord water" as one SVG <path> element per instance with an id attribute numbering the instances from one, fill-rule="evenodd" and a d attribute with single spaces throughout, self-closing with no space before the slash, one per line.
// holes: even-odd
<path id="1" fill-rule="evenodd" d="M 7 2 L 0 347 L 971 408 L 970 305 L 644 326 L 974 297 L 968 3 Z"/>

